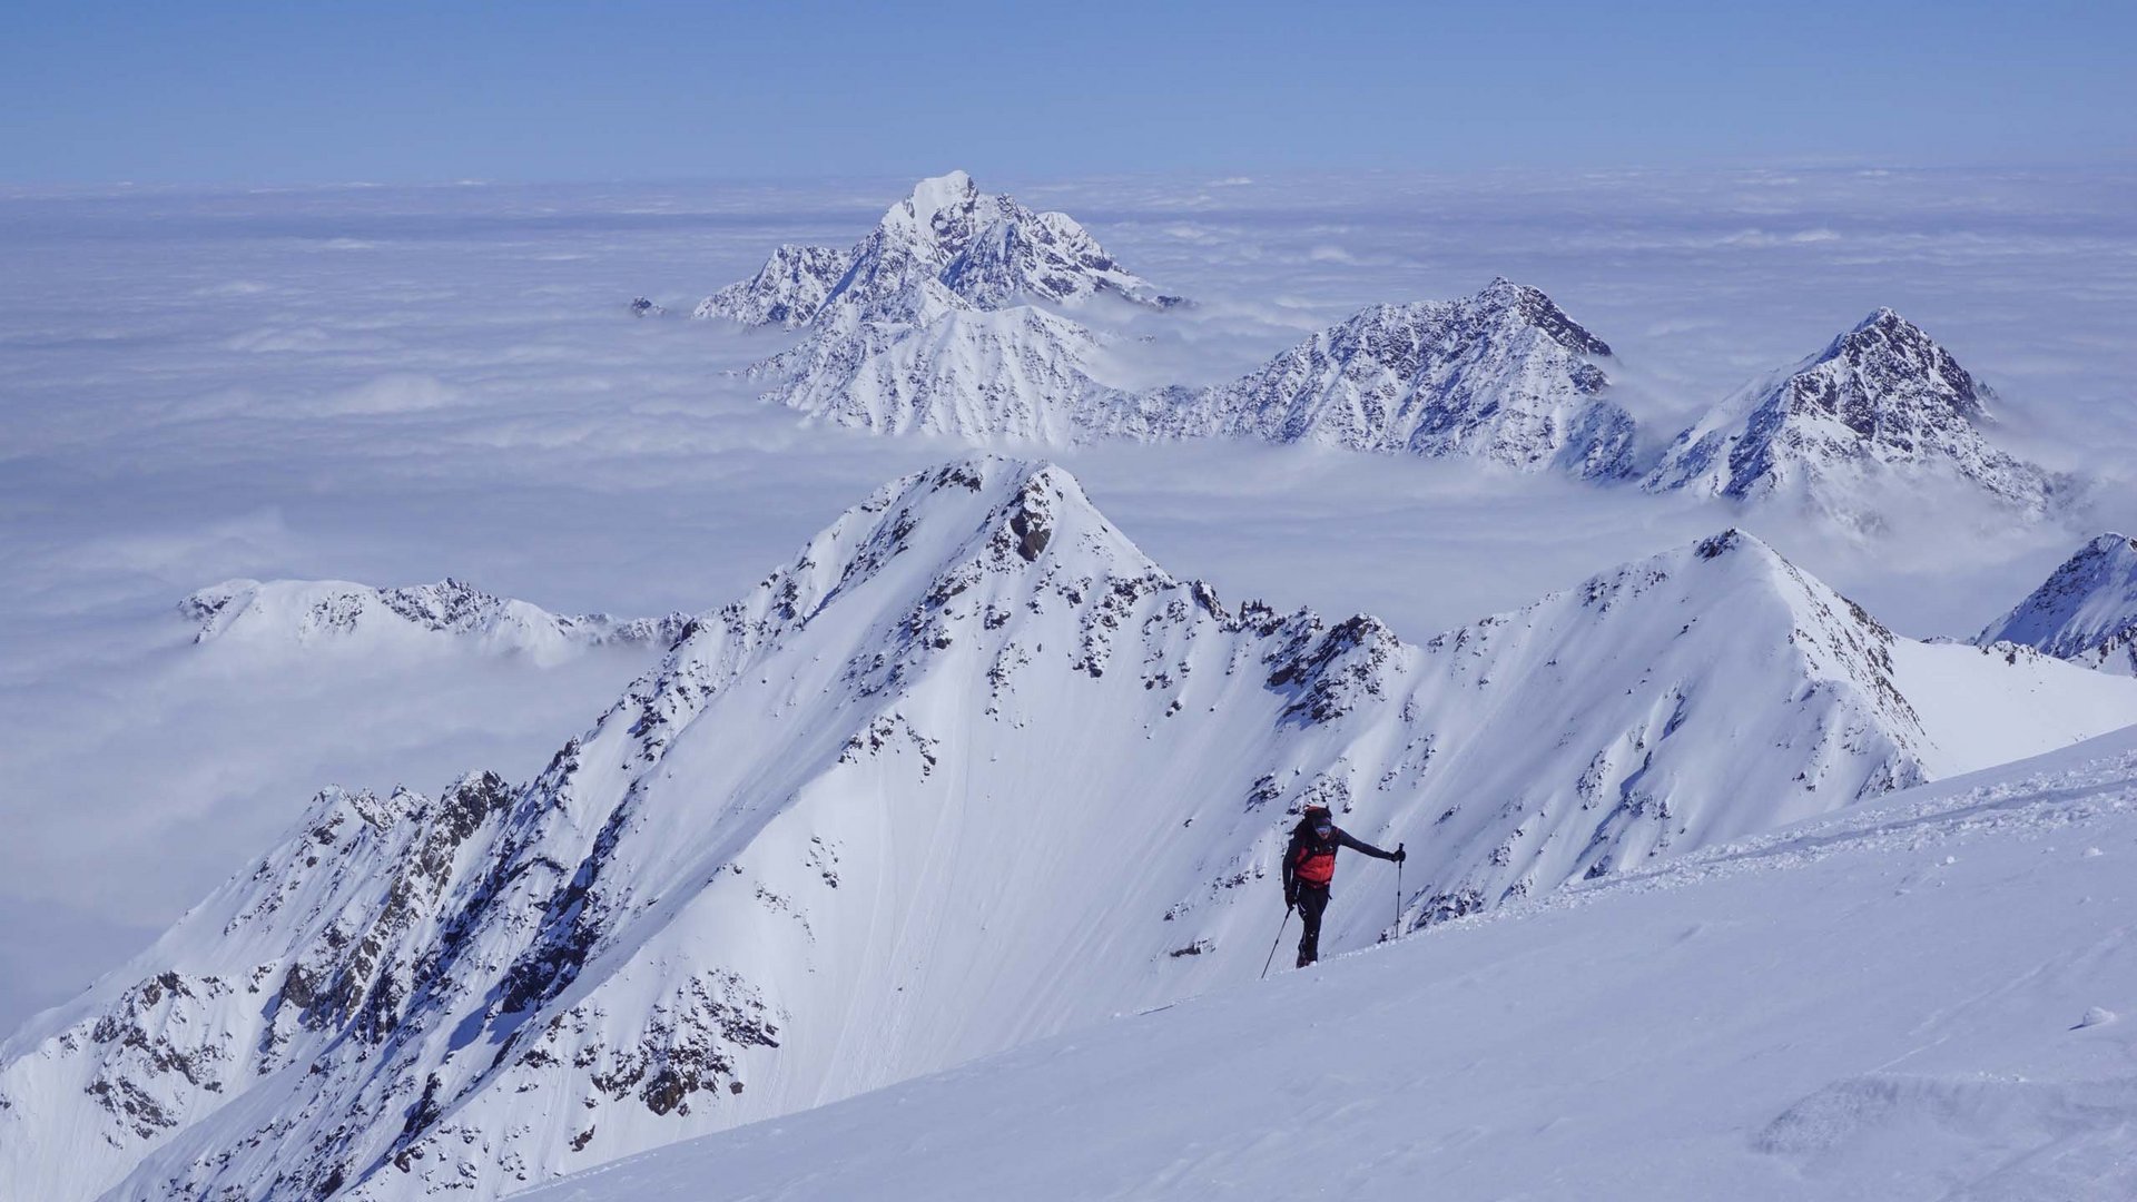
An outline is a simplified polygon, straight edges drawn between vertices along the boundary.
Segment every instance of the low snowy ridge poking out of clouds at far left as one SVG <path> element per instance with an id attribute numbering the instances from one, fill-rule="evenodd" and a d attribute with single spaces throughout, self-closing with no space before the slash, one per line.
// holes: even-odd
<path id="1" fill-rule="evenodd" d="M 562 616 L 494 597 L 459 580 L 372 588 L 342 580 L 227 580 L 180 601 L 207 642 L 310 644 L 380 650 L 451 637 L 487 652 L 553 661 L 605 644 L 673 642 L 688 622 L 667 618 Z"/>

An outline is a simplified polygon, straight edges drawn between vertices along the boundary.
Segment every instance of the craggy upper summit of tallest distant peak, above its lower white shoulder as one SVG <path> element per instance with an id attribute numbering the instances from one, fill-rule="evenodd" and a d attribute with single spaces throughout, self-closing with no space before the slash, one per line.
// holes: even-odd
<path id="1" fill-rule="evenodd" d="M 827 310 L 846 319 L 910 317 L 925 282 L 979 310 L 1096 295 L 1148 308 L 1180 304 L 1116 263 L 1068 214 L 1032 212 L 951 171 L 921 180 L 851 250 L 780 246 L 752 280 L 699 304 L 697 317 L 786 327 Z"/>

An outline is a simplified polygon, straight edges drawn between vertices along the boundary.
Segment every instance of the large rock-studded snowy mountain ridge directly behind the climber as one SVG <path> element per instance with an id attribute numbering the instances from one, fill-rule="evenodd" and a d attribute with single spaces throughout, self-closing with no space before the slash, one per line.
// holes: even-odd
<path id="1" fill-rule="evenodd" d="M 1413 646 L 1220 605 L 1060 468 L 949 464 L 532 783 L 325 793 L 0 1050 L 0 1174 L 496 1198 L 1244 982 L 1306 802 L 1410 845 L 1402 896 L 1340 870 L 1342 952 L 1949 770 L 1908 646 L 1740 533 Z M 2041 704 L 1947 650 L 1962 716 Z M 2028 672 L 2101 693 L 2037 738 L 2137 721 L 2137 682 Z"/>

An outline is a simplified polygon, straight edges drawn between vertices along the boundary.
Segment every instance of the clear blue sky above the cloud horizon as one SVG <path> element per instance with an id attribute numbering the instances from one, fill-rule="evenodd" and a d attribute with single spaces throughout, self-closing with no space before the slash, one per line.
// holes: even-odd
<path id="1" fill-rule="evenodd" d="M 13 4 L 0 180 L 2128 163 L 2137 4 Z"/>

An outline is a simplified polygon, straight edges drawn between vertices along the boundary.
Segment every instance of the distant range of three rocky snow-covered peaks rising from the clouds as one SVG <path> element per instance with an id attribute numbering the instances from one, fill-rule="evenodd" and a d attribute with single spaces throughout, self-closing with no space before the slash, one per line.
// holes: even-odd
<path id="1" fill-rule="evenodd" d="M 697 317 L 801 329 L 750 368 L 765 398 L 823 421 L 977 443 L 1252 438 L 1556 471 L 1650 492 L 1787 500 L 1876 526 L 1866 490 L 1957 483 L 2024 515 L 2077 481 L 1990 441 L 1992 394 L 1878 310 L 1816 355 L 1746 385 L 1658 462 L 1611 400 L 1607 342 L 1539 289 L 1370 306 L 1237 381 L 1124 389 L 1116 336 L 1075 319 L 1101 297 L 1175 308 L 1064 214 L 923 180 L 848 250 L 782 246 Z"/>

